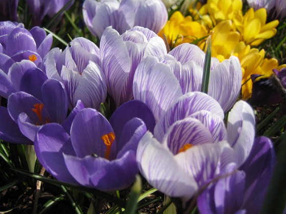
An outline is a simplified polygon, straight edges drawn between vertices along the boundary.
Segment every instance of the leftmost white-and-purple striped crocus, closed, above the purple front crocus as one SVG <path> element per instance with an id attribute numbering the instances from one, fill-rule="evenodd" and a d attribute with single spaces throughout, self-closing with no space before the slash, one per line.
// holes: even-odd
<path id="1" fill-rule="evenodd" d="M 61 81 L 68 95 L 69 108 L 81 100 L 86 108 L 99 109 L 105 101 L 107 88 L 99 64 L 99 48 L 79 37 L 61 51 L 52 49 L 44 61 L 43 70 L 49 78 Z"/>

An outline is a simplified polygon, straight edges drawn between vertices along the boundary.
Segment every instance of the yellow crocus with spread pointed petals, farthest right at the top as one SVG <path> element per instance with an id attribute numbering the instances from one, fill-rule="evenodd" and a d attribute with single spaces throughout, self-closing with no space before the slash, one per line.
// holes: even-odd
<path id="1" fill-rule="evenodd" d="M 237 30 L 241 33 L 241 40 L 251 46 L 257 46 L 264 40 L 275 36 L 277 32 L 275 28 L 279 24 L 278 20 L 266 23 L 265 8 L 256 11 L 250 8 L 244 16 L 241 11 L 236 11 L 233 19 Z"/>

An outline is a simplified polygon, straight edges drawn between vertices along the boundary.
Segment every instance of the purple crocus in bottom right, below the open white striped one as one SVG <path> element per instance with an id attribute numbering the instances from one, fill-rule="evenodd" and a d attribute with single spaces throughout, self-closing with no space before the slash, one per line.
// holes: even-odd
<path id="1" fill-rule="evenodd" d="M 275 165 L 272 142 L 256 138 L 243 166 L 228 164 L 198 197 L 200 213 L 259 213 Z"/>

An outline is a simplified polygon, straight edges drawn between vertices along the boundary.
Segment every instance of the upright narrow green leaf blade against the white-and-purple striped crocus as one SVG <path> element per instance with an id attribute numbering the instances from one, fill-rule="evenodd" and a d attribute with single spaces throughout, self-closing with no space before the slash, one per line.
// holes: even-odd
<path id="1" fill-rule="evenodd" d="M 210 36 L 208 37 L 206 44 L 207 44 L 207 47 L 206 47 L 206 53 L 205 53 L 201 92 L 207 94 L 209 74 L 210 74 L 210 61 L 211 61 L 211 37 Z"/>

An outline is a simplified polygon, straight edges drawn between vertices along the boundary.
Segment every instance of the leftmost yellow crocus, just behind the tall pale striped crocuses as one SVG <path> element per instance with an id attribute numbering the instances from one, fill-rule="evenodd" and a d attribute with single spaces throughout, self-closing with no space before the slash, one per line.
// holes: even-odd
<path id="1" fill-rule="evenodd" d="M 172 49 L 179 44 L 191 43 L 204 38 L 207 36 L 207 33 L 205 26 L 197 21 L 193 21 L 192 17 L 184 17 L 179 11 L 176 11 L 158 35 L 161 38 L 164 35 Z"/>

